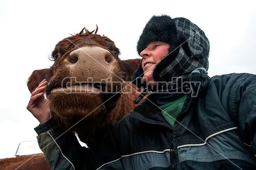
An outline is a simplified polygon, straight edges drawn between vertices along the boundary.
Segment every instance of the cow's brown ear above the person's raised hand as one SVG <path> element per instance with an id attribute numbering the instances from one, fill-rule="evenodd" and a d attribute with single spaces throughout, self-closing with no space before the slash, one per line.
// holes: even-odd
<path id="1" fill-rule="evenodd" d="M 27 81 L 27 86 L 28 86 L 29 92 L 32 93 L 38 87 L 38 85 L 41 83 L 41 81 L 43 81 L 44 79 L 46 79 L 48 81 L 48 79 L 51 76 L 52 76 L 51 68 L 39 69 L 39 70 L 33 71 Z"/>

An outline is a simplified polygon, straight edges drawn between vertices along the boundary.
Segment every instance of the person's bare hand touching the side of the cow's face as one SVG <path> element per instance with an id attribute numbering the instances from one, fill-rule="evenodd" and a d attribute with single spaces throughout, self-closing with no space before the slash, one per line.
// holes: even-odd
<path id="1" fill-rule="evenodd" d="M 35 91 L 31 93 L 29 104 L 26 107 L 38 119 L 40 124 L 45 123 L 51 118 L 48 101 L 44 98 L 46 85 L 47 81 L 44 79 Z"/>

